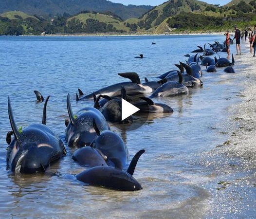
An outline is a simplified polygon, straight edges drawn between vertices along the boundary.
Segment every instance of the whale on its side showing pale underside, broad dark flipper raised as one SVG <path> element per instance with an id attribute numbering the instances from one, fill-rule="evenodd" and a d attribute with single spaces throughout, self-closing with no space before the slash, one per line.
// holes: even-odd
<path id="1" fill-rule="evenodd" d="M 140 77 L 135 72 L 129 72 L 129 73 L 118 73 L 118 75 L 129 78 L 130 82 L 121 82 L 117 84 L 110 85 L 106 88 L 102 88 L 98 91 L 94 91 L 94 94 L 96 96 L 98 95 L 108 95 L 108 96 L 120 96 L 121 95 L 121 87 L 124 87 L 126 90 L 126 93 L 129 96 L 145 96 L 146 94 L 151 93 L 153 90 L 149 86 L 141 84 Z M 81 91 L 81 90 L 80 90 Z M 79 91 L 80 95 L 81 92 Z M 90 93 L 89 95 L 83 96 L 78 100 L 81 99 L 91 99 L 93 98 L 93 93 Z"/>

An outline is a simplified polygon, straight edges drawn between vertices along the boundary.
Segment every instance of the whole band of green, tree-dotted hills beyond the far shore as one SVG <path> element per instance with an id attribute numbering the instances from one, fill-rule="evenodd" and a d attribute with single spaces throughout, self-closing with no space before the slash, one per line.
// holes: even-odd
<path id="1" fill-rule="evenodd" d="M 256 24 L 256 0 L 224 6 L 198 0 L 169 0 L 140 18 L 124 20 L 112 12 L 82 11 L 45 19 L 12 11 L 0 15 L 0 35 L 32 34 L 171 34 L 219 32 Z"/>

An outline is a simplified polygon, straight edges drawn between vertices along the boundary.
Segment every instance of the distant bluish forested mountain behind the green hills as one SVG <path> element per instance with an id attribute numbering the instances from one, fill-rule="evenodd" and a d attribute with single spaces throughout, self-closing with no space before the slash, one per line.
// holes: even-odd
<path id="1" fill-rule="evenodd" d="M 1 0 L 0 13 L 8 11 L 23 11 L 30 15 L 53 17 L 65 14 L 74 15 L 80 11 L 107 12 L 123 19 L 138 18 L 152 6 L 123 5 L 109 0 Z"/>

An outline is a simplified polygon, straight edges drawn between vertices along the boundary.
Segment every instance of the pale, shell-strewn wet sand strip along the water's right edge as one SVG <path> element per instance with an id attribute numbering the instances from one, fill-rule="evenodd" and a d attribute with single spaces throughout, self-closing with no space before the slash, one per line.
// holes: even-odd
<path id="1" fill-rule="evenodd" d="M 242 47 L 242 55 L 235 57 L 235 80 L 241 89 L 232 97 L 239 102 L 228 107 L 229 117 L 221 125 L 227 141 L 205 152 L 200 161 L 213 177 L 206 183 L 212 196 L 207 218 L 256 215 L 256 58 L 248 42 Z"/>

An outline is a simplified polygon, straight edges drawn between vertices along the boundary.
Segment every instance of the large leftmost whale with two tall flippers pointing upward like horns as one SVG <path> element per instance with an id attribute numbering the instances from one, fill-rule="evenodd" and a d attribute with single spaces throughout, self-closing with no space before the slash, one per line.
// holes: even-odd
<path id="1" fill-rule="evenodd" d="M 66 155 L 61 139 L 46 126 L 46 106 L 50 96 L 44 103 L 42 124 L 32 124 L 22 130 L 17 128 L 10 98 L 8 98 L 8 114 L 14 139 L 10 142 L 10 132 L 7 134 L 6 163 L 13 172 L 37 173 L 44 172 L 47 167 Z"/>

